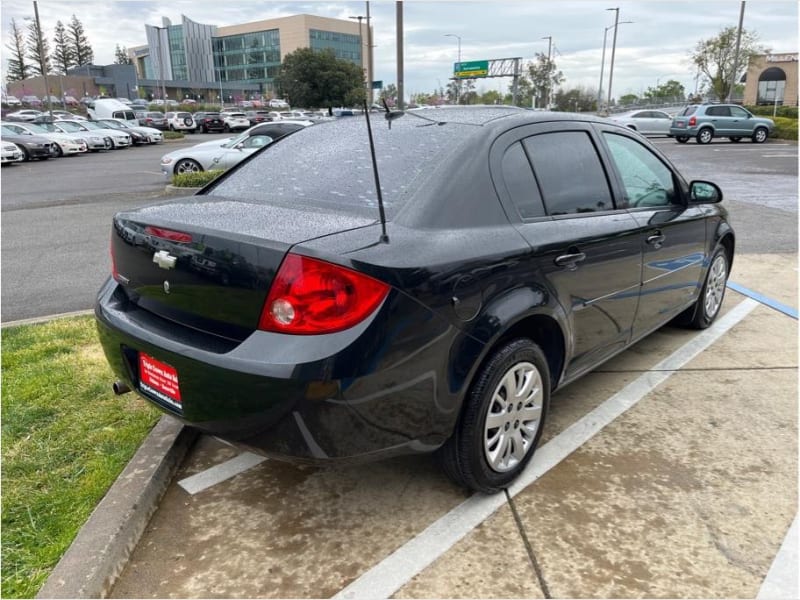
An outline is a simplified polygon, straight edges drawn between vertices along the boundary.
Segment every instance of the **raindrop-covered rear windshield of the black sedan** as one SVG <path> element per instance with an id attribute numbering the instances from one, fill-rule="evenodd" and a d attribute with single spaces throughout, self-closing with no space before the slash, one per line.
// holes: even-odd
<path id="1" fill-rule="evenodd" d="M 410 114 L 395 120 L 390 130 L 376 115 L 372 131 L 387 216 L 396 214 L 478 130 L 474 124 L 437 125 Z M 366 121 L 325 122 L 288 135 L 242 164 L 209 194 L 377 215 Z"/>

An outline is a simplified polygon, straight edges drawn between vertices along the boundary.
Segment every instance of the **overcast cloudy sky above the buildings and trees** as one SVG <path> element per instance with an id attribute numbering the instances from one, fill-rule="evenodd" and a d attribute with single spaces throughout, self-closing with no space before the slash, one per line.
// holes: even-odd
<path id="1" fill-rule="evenodd" d="M 512 0 L 473 2 L 407 0 L 404 3 L 405 90 L 432 92 L 446 86 L 457 59 L 461 36 L 463 61 L 506 57 L 530 60 L 547 52 L 552 36 L 554 58 L 563 71 L 565 88 L 584 86 L 597 89 L 603 32 L 613 25 L 613 11 L 619 7 L 620 21 L 614 66 L 614 96 L 639 94 L 657 82 L 676 79 L 687 91 L 694 90 L 695 72 L 688 54 L 699 40 L 716 35 L 723 27 L 736 26 L 738 0 L 612 1 Z M 776 53 L 798 51 L 798 8 L 794 0 L 750 0 L 744 26 L 756 31 L 761 43 Z M 396 82 L 395 2 L 370 3 L 375 44 L 375 78 L 385 84 Z M 75 14 L 83 23 L 94 49 L 95 63 L 114 60 L 116 44 L 145 43 L 144 24 L 159 25 L 161 17 L 180 23 L 181 14 L 200 23 L 235 25 L 273 17 L 310 13 L 334 18 L 366 14 L 365 2 L 270 2 L 266 0 L 40 0 L 42 28 L 51 40 L 56 21 L 67 23 Z M 31 0 L 2 0 L 3 83 L 9 50 L 11 19 L 23 26 L 33 16 Z M 611 55 L 613 30 L 608 32 L 605 79 Z M 508 79 L 482 79 L 477 90 L 505 90 Z"/>

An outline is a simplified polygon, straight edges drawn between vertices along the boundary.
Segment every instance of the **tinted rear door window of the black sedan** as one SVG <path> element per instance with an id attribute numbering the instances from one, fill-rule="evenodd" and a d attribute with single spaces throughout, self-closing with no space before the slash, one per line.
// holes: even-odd
<path id="1" fill-rule="evenodd" d="M 560 131 L 524 141 L 549 215 L 613 210 L 600 157 L 589 134 Z"/>

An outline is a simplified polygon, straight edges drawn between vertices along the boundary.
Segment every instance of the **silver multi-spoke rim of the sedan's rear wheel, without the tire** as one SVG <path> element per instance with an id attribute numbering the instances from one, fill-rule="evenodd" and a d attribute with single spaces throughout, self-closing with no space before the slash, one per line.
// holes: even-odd
<path id="1" fill-rule="evenodd" d="M 535 365 L 513 365 L 495 388 L 486 414 L 483 450 L 492 470 L 504 473 L 533 447 L 542 416 L 542 377 Z"/>

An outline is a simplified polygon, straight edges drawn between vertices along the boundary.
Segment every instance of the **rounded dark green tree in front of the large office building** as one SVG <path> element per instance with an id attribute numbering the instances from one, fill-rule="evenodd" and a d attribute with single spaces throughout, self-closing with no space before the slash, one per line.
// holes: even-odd
<path id="1" fill-rule="evenodd" d="M 333 50 L 299 48 L 286 55 L 275 86 L 293 105 L 307 107 L 360 105 L 366 97 L 364 71 Z"/>

